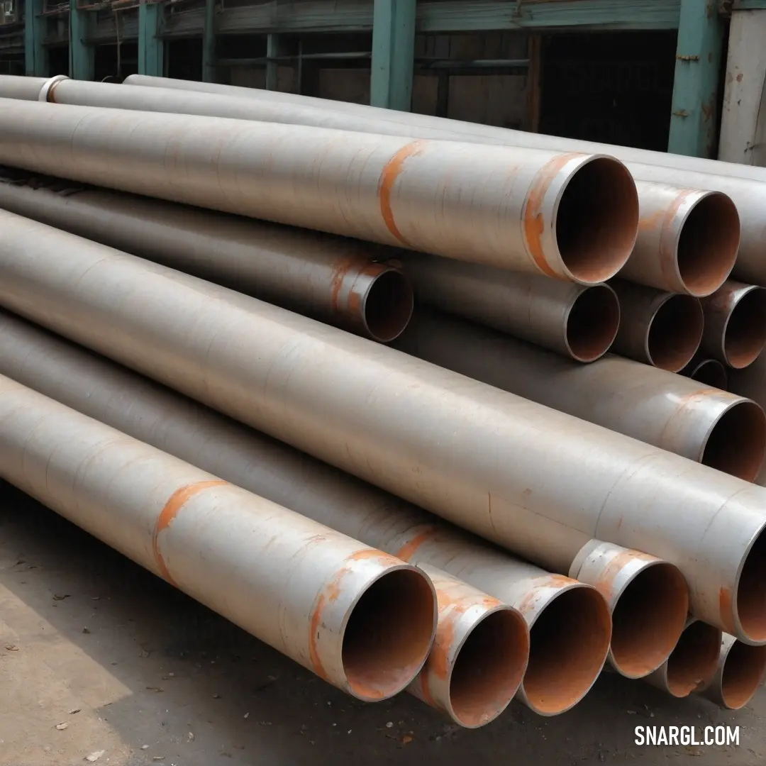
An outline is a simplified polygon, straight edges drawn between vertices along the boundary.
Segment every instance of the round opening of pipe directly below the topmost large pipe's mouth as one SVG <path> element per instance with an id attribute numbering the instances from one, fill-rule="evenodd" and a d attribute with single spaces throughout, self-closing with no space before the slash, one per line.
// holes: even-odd
<path id="1" fill-rule="evenodd" d="M 566 341 L 578 362 L 594 362 L 603 356 L 617 337 L 620 301 L 607 285 L 583 290 L 569 309 Z"/>

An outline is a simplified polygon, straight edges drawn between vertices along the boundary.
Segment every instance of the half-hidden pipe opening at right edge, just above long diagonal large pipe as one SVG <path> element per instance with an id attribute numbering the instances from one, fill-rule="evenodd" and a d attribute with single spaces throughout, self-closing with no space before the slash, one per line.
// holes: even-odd
<path id="1" fill-rule="evenodd" d="M 732 404 L 715 421 L 702 452 L 702 465 L 755 481 L 766 455 L 766 415 L 755 401 Z"/>

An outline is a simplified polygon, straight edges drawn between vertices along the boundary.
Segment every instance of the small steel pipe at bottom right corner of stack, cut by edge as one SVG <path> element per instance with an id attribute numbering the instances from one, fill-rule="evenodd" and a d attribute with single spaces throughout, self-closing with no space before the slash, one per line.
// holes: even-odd
<path id="1" fill-rule="evenodd" d="M 753 699 L 764 671 L 766 647 L 749 647 L 724 633 L 715 676 L 699 693 L 722 708 L 739 710 Z"/>

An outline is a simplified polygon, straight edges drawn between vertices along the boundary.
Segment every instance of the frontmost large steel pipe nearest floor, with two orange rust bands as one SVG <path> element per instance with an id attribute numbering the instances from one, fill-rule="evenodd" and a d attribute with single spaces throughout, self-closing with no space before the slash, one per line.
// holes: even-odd
<path id="1" fill-rule="evenodd" d="M 2 478 L 352 696 L 423 666 L 434 588 L 411 565 L 5 377 L 0 445 Z"/>

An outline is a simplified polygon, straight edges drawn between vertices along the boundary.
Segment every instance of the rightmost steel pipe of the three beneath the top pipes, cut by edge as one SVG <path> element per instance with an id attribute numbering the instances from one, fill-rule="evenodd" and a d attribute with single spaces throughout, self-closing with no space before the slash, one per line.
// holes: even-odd
<path id="1" fill-rule="evenodd" d="M 728 280 L 702 299 L 705 330 L 700 349 L 735 369 L 755 362 L 766 345 L 766 290 Z"/>

